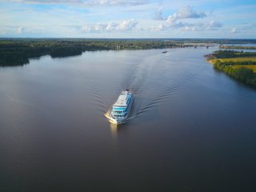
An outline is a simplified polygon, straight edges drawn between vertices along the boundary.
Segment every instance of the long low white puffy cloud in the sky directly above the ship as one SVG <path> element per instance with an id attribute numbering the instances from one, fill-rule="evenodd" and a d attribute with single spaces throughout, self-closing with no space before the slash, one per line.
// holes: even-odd
<path id="1" fill-rule="evenodd" d="M 112 32 L 112 31 L 124 31 L 135 30 L 138 22 L 134 19 L 128 19 L 122 22 L 109 22 L 107 24 L 92 24 L 82 26 L 84 32 Z"/>

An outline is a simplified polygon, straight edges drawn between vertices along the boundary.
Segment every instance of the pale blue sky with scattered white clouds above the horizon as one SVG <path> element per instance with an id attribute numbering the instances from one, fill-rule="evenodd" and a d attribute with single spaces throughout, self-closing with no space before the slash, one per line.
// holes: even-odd
<path id="1" fill-rule="evenodd" d="M 256 1 L 0 0 L 0 38 L 256 38 Z"/>

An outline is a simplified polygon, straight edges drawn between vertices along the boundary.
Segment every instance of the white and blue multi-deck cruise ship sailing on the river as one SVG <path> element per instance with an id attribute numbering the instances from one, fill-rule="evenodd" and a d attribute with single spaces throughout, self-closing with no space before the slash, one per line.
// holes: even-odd
<path id="1" fill-rule="evenodd" d="M 133 92 L 130 90 L 122 90 L 118 100 L 112 106 L 110 122 L 113 122 L 114 124 L 124 122 L 128 118 L 133 102 Z"/>

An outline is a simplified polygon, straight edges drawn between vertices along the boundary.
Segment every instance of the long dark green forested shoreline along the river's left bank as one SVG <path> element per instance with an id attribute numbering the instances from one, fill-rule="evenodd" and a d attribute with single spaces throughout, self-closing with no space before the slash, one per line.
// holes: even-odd
<path id="1" fill-rule="evenodd" d="M 24 65 L 29 63 L 30 58 L 42 55 L 58 58 L 93 50 L 146 50 L 184 46 L 192 45 L 163 40 L 2 39 L 0 66 Z"/>

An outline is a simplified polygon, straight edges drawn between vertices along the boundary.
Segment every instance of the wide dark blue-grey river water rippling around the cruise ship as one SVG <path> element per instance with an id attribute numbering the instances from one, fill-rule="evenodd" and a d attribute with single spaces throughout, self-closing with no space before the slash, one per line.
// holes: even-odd
<path id="1" fill-rule="evenodd" d="M 256 91 L 216 47 L 86 52 L 0 68 L 1 191 L 256 191 Z M 134 90 L 130 120 L 104 114 Z"/>

